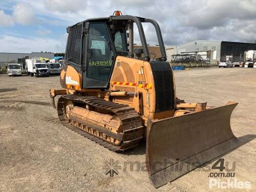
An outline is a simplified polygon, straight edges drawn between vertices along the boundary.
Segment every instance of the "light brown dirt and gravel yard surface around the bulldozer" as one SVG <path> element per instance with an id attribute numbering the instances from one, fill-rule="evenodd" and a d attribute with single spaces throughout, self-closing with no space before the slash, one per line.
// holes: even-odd
<path id="1" fill-rule="evenodd" d="M 210 189 L 209 174 L 217 170 L 209 167 L 216 160 L 155 189 L 145 171 L 143 143 L 117 154 L 59 123 L 49 99 L 49 89 L 60 88 L 58 76 L 1 74 L 0 191 L 255 191 L 256 69 L 190 69 L 174 74 L 177 96 L 186 102 L 239 102 L 231 127 L 241 146 L 222 158 L 228 166 L 235 165 L 230 180 L 249 182 L 249 189 Z M 111 158 L 121 167 L 114 177 L 103 169 Z M 141 166 L 131 171 L 130 162 Z"/>

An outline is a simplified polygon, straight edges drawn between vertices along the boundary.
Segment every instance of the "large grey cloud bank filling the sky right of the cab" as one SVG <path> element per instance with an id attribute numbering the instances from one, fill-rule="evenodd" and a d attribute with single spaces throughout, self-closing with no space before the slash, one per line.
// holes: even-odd
<path id="1" fill-rule="evenodd" d="M 180 45 L 193 40 L 256 40 L 256 1 L 186 0 L 148 3 L 143 9 L 125 8 L 136 15 L 150 17 L 160 25 L 165 45 Z M 152 29 L 145 29 L 147 42 L 154 45 Z"/>

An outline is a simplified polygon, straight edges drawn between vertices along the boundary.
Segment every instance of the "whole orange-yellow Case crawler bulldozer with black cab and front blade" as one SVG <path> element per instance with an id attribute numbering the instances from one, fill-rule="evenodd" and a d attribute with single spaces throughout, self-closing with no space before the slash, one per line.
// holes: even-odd
<path id="1" fill-rule="evenodd" d="M 154 26 L 161 57 L 148 52 L 142 23 Z M 142 49 L 134 49 L 134 25 Z M 230 116 L 238 103 L 213 108 L 176 98 L 172 66 L 155 20 L 115 11 L 67 32 L 63 89 L 50 90 L 59 120 L 114 152 L 134 148 L 144 138 L 146 167 L 155 187 L 237 146 Z"/>

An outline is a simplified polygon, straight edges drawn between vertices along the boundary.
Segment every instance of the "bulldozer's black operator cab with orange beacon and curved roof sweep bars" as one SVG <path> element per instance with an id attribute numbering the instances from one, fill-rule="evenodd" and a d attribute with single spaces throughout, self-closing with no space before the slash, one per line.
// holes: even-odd
<path id="1" fill-rule="evenodd" d="M 134 23 L 138 28 L 141 50 L 133 46 Z M 141 23 L 151 23 L 155 27 L 161 57 L 154 60 L 165 61 L 161 31 L 153 19 L 122 15 L 120 11 L 115 11 L 113 16 L 84 20 L 67 28 L 69 37 L 65 62 L 82 74 L 82 88 L 108 88 L 118 55 L 152 60 Z"/>

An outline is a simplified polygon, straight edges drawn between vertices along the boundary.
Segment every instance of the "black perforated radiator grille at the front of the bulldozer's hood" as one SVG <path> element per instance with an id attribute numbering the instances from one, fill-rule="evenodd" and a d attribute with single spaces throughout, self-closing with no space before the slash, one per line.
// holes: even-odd
<path id="1" fill-rule="evenodd" d="M 175 108 L 174 80 L 169 63 L 151 61 L 150 64 L 155 81 L 156 113 L 173 110 Z"/>

